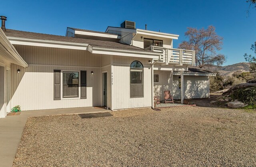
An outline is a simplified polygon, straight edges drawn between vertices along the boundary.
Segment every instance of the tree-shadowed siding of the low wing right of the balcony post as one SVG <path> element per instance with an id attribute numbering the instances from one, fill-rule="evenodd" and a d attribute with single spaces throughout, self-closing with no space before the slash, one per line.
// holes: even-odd
<path id="1" fill-rule="evenodd" d="M 178 75 L 173 75 L 173 96 L 180 98 Z M 208 76 L 184 75 L 184 98 L 208 97 Z"/>

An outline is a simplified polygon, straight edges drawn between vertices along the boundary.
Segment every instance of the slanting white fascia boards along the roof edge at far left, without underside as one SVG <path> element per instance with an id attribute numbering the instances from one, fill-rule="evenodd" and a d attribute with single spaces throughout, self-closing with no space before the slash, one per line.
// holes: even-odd
<path id="1" fill-rule="evenodd" d="M 2 46 L 6 49 L 6 51 L 8 51 L 8 55 L 10 55 L 9 58 L 12 59 L 12 60 L 9 60 L 7 58 L 8 61 L 17 65 L 20 65 L 22 67 L 28 67 L 28 64 L 26 63 L 26 61 L 22 59 L 18 51 L 15 49 L 15 47 L 12 45 L 12 43 L 8 40 L 8 38 L 2 31 L 2 29 L 0 29 L 0 42 Z"/>

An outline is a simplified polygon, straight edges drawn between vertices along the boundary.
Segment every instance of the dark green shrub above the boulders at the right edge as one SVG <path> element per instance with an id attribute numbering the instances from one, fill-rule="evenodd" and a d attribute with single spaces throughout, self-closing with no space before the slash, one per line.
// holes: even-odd
<path id="1" fill-rule="evenodd" d="M 256 88 L 236 89 L 230 94 L 233 100 L 237 99 L 249 105 L 256 104 Z"/>

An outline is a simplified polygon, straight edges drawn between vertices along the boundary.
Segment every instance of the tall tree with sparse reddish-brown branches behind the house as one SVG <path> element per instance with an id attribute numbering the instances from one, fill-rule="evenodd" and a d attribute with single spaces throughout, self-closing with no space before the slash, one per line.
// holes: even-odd
<path id="1" fill-rule="evenodd" d="M 178 48 L 196 51 L 197 67 L 222 65 L 226 61 L 225 55 L 216 53 L 222 49 L 223 37 L 216 34 L 214 26 L 208 26 L 207 29 L 188 28 L 185 36 L 188 41 L 182 41 Z"/>

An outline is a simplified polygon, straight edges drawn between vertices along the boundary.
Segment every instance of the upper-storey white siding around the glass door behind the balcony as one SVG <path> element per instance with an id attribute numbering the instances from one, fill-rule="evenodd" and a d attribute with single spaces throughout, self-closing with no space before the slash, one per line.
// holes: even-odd
<path id="1" fill-rule="evenodd" d="M 172 39 L 169 38 L 162 38 L 162 37 L 156 37 L 156 36 L 151 36 L 151 35 L 144 35 L 144 34 L 137 34 L 134 39 L 132 40 L 132 45 L 140 48 L 144 48 L 144 39 L 143 38 L 148 38 L 148 39 L 159 39 L 163 41 L 163 47 L 166 48 L 172 48 Z"/>

